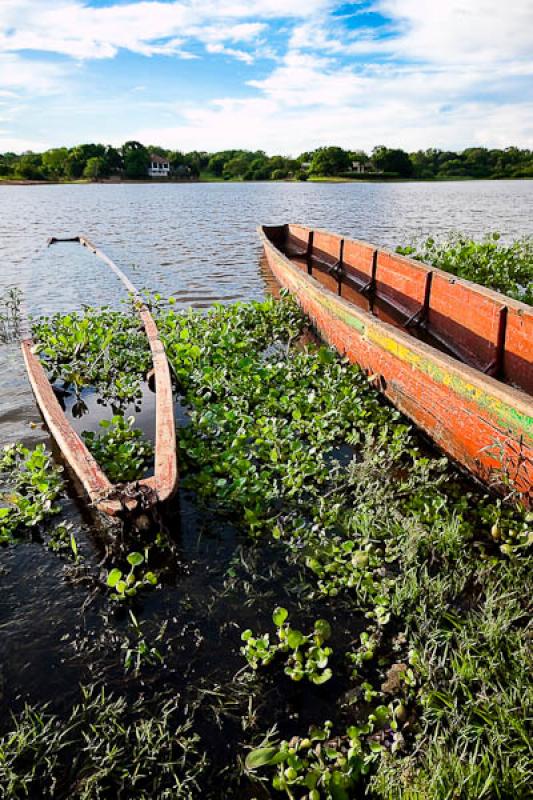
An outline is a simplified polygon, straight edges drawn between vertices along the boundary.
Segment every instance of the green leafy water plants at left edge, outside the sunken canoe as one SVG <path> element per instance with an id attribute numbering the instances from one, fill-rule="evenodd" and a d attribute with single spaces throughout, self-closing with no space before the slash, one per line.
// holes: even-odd
<path id="1" fill-rule="evenodd" d="M 62 468 L 54 464 L 44 444 L 33 449 L 5 445 L 0 452 L 0 543 L 13 541 L 59 512 Z"/>

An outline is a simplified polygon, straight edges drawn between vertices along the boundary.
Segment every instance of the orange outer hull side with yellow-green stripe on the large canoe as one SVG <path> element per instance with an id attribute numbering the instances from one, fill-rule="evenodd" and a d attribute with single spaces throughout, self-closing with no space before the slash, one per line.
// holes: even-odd
<path id="1" fill-rule="evenodd" d="M 265 254 L 330 345 L 449 456 L 505 491 L 503 471 L 532 503 L 533 415 L 527 395 L 480 374 L 337 296 L 306 274 L 260 230 Z"/>

